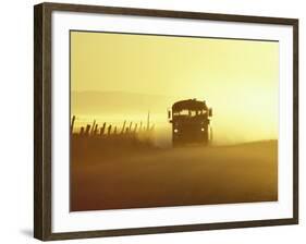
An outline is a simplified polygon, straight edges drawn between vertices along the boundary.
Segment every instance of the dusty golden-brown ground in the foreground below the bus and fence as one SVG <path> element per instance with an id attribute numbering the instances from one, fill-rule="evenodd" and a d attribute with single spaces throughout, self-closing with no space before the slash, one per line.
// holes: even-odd
<path id="1" fill-rule="evenodd" d="M 72 143 L 72 211 L 271 200 L 277 141 L 136 151 Z"/>

